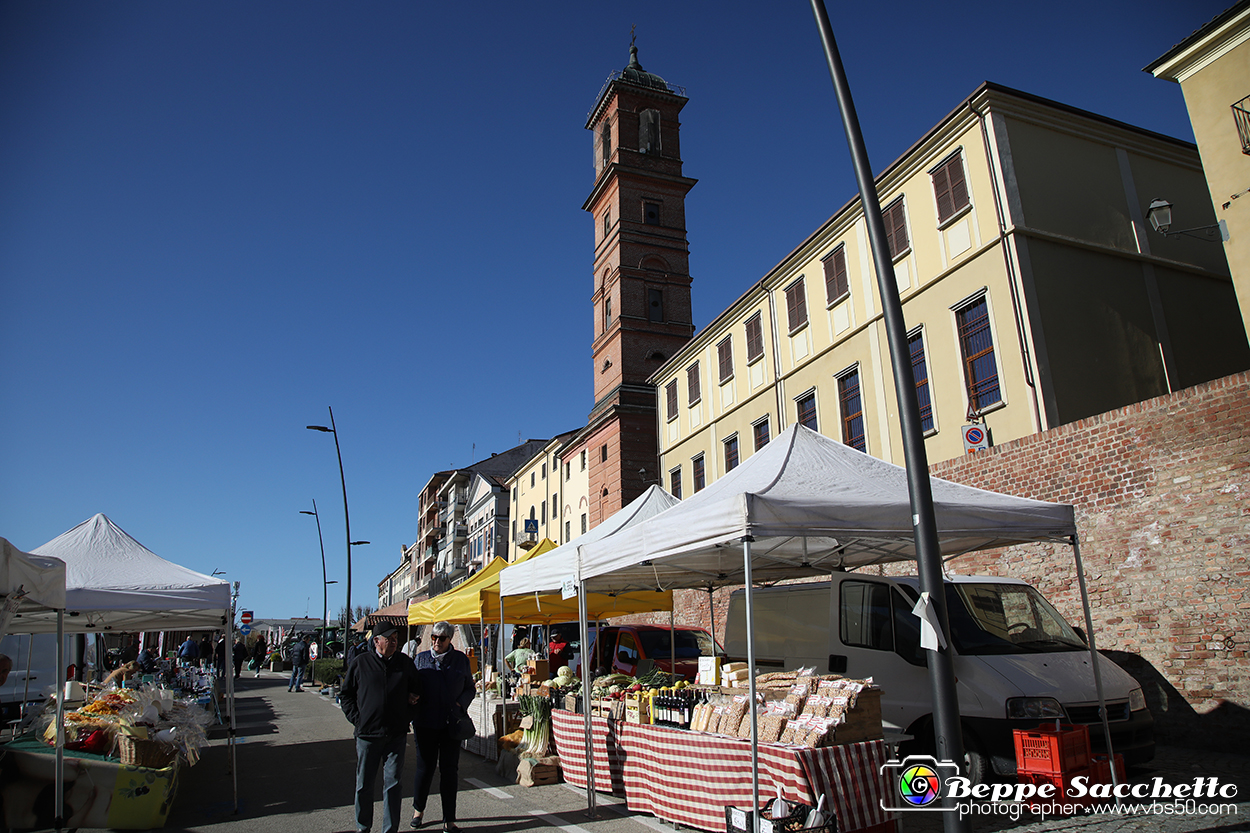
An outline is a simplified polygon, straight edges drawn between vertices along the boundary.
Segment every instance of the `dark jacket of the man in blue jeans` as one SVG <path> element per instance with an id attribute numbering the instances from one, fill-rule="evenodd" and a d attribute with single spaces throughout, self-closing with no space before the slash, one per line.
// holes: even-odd
<path id="1" fill-rule="evenodd" d="M 421 694 L 411 658 L 396 650 L 390 659 L 382 659 L 376 650 L 369 650 L 348 665 L 339 702 L 356 727 L 358 738 L 391 738 L 408 734 L 412 714 L 409 694 Z"/>

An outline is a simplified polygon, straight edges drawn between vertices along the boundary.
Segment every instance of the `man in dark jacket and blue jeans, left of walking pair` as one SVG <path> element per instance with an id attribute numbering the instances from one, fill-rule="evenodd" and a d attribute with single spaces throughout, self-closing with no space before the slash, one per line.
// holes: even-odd
<path id="1" fill-rule="evenodd" d="M 374 777 L 382 765 L 382 833 L 398 833 L 402 807 L 400 774 L 412 707 L 421 694 L 411 658 L 399 653 L 396 628 L 374 630 L 372 649 L 355 657 L 339 692 L 356 735 L 356 830 L 374 820 Z"/>

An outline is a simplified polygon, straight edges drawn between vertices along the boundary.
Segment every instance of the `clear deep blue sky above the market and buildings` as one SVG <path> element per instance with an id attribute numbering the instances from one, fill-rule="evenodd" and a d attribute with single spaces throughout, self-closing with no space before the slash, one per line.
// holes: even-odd
<path id="1" fill-rule="evenodd" d="M 990 80 L 1192 141 L 1141 68 L 1229 0 L 829 3 L 881 170 Z M 806 3 L 0 4 L 0 535 L 98 512 L 331 613 L 436 470 L 585 424 L 586 114 L 629 60 L 686 89 L 701 328 L 855 195 Z"/>

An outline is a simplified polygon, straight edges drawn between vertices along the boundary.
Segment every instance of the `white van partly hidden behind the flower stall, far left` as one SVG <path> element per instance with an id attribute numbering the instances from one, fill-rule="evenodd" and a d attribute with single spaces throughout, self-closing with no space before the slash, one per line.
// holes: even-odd
<path id="1" fill-rule="evenodd" d="M 65 635 L 66 679 L 95 679 L 101 667 L 100 644 L 98 634 Z M 0 719 L 8 722 L 21 715 L 22 703 L 41 705 L 55 689 L 56 634 L 8 634 L 0 639 L 0 654 L 12 660 L 9 679 L 0 685 Z"/>

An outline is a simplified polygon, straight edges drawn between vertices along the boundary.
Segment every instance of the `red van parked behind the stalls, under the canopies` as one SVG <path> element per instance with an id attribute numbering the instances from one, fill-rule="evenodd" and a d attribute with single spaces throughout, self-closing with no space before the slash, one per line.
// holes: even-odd
<path id="1" fill-rule="evenodd" d="M 675 628 L 664 625 L 609 625 L 600 632 L 591 648 L 595 674 L 629 674 L 636 677 L 642 670 L 659 668 L 675 675 L 694 679 L 699 673 L 699 658 L 725 652 L 702 628 Z M 650 660 L 650 662 L 649 662 Z"/>

